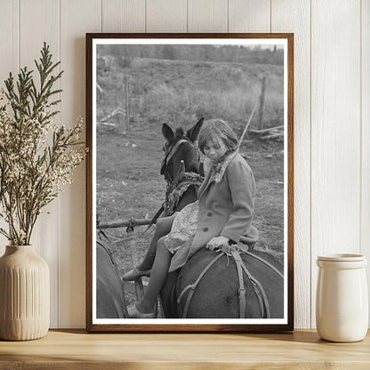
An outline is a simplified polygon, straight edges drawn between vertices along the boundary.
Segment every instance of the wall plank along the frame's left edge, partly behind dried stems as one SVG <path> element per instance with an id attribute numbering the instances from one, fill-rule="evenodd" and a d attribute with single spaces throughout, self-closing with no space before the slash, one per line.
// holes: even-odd
<path id="1" fill-rule="evenodd" d="M 62 0 L 60 21 L 60 59 L 64 70 L 60 117 L 61 122 L 70 127 L 78 117 L 84 117 L 85 40 L 82 35 L 84 29 L 101 32 L 101 0 Z M 76 168 L 73 185 L 60 194 L 59 327 L 76 327 L 84 321 L 85 255 L 81 246 L 85 239 L 85 165 L 83 162 Z M 66 220 L 69 225 L 80 227 L 66 228 Z"/>

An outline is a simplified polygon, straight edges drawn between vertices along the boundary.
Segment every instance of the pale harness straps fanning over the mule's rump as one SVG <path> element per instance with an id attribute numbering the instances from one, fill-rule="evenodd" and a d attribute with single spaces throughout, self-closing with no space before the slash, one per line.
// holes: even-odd
<path id="1" fill-rule="evenodd" d="M 271 313 L 270 313 L 270 309 L 269 309 L 269 300 L 267 298 L 265 290 L 263 289 L 263 286 L 261 285 L 261 283 L 255 277 L 253 277 L 251 272 L 246 268 L 245 263 L 243 262 L 240 254 L 245 253 L 249 256 L 252 256 L 252 257 L 256 258 L 257 260 L 261 261 L 266 266 L 268 266 L 269 269 L 272 269 L 273 271 L 275 271 L 279 277 L 284 278 L 283 275 L 281 274 L 281 272 L 278 269 L 276 269 L 274 266 L 272 266 L 268 261 L 265 261 L 263 258 L 261 258 L 259 256 L 255 256 L 253 253 L 246 252 L 243 249 L 237 250 L 237 248 L 235 248 L 235 247 L 234 248 L 229 247 L 228 249 L 229 249 L 228 252 L 222 250 L 221 254 L 217 255 L 215 258 L 213 258 L 212 261 L 210 261 L 205 266 L 205 269 L 203 269 L 201 271 L 201 273 L 197 277 L 197 280 L 194 282 L 194 284 L 190 284 L 189 286 L 186 286 L 182 290 L 181 294 L 179 295 L 179 297 L 177 299 L 177 303 L 180 303 L 184 294 L 186 294 L 188 291 L 190 291 L 188 296 L 187 296 L 186 302 L 185 302 L 185 307 L 184 307 L 184 311 L 183 311 L 183 314 L 182 314 L 182 318 L 187 318 L 187 316 L 188 316 L 190 302 L 191 302 L 191 299 L 193 297 L 193 294 L 194 294 L 195 290 L 197 289 L 197 286 L 198 286 L 199 282 L 205 276 L 205 273 L 213 266 L 214 262 L 218 261 L 223 255 L 227 255 L 227 256 L 231 255 L 233 260 L 235 261 L 236 266 L 237 266 L 237 277 L 238 277 L 238 281 L 239 281 L 239 288 L 238 288 L 239 318 L 245 318 L 245 284 L 244 284 L 243 271 L 244 271 L 246 277 L 248 278 L 248 280 L 250 281 L 251 285 L 253 286 L 254 294 L 256 295 L 257 300 L 258 300 L 259 305 L 260 305 L 261 318 L 270 318 L 271 317 Z"/>

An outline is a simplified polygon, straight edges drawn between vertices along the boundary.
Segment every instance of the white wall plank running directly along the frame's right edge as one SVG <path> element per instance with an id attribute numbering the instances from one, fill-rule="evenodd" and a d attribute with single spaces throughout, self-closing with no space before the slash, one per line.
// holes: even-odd
<path id="1" fill-rule="evenodd" d="M 272 3 L 272 32 L 294 32 L 294 325 L 310 327 L 310 4 Z"/>

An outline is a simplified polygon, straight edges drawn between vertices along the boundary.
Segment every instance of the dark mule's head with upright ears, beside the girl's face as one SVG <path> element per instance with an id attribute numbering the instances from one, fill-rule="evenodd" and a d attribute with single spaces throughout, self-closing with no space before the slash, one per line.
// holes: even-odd
<path id="1" fill-rule="evenodd" d="M 182 128 L 173 129 L 164 124 L 162 133 L 165 137 L 165 160 L 162 163 L 161 174 L 165 175 L 165 180 L 173 181 L 179 173 L 194 172 L 199 173 L 199 151 L 197 149 L 197 136 L 204 118 L 201 118 L 196 125 L 191 127 L 186 133 Z"/>

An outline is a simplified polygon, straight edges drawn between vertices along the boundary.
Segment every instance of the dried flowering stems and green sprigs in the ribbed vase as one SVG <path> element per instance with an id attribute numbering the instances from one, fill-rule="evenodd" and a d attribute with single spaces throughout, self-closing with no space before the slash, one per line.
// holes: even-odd
<path id="1" fill-rule="evenodd" d="M 58 196 L 72 173 L 84 159 L 86 149 L 79 141 L 82 118 L 69 129 L 54 125 L 51 110 L 59 100 L 53 84 L 62 72 L 52 76 L 60 64 L 52 63 L 49 46 L 44 44 L 40 61 L 35 60 L 40 77 L 36 88 L 33 71 L 20 69 L 14 83 L 12 73 L 0 93 L 0 218 L 9 229 L 0 229 L 11 245 L 29 245 L 37 217 Z M 5 101 L 1 105 L 2 101 Z M 52 137 L 51 137 L 52 136 Z M 46 142 L 52 141 L 50 145 Z"/>

